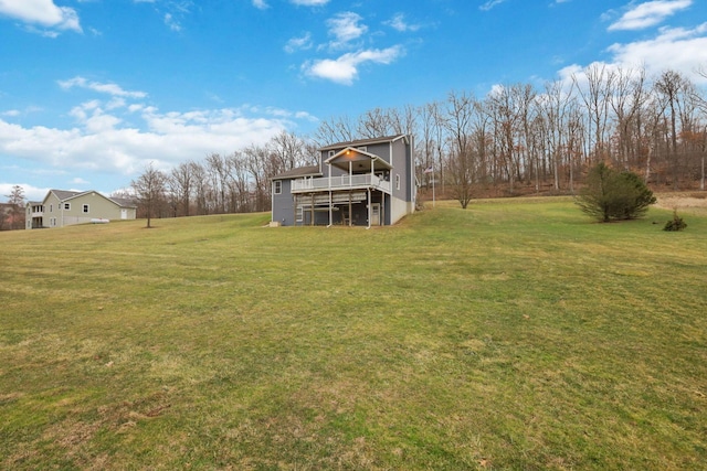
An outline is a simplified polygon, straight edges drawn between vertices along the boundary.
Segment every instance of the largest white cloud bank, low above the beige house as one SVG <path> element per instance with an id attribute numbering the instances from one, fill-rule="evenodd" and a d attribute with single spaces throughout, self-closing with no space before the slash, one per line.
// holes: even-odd
<path id="1" fill-rule="evenodd" d="M 31 169 L 72 175 L 99 171 L 129 180 L 150 161 L 169 168 L 209 152 L 232 152 L 265 143 L 294 128 L 297 120 L 313 119 L 306 113 L 273 108 L 255 115 L 250 109 L 161 113 L 130 105 L 110 111 L 101 100 L 91 100 L 71 110 L 76 119 L 71 129 L 23 127 L 0 119 L 0 154 Z"/>

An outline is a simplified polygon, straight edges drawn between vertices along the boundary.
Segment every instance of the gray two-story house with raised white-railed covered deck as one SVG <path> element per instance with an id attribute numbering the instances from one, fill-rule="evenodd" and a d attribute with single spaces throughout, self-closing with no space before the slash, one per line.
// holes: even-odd
<path id="1" fill-rule="evenodd" d="M 392 225 L 415 210 L 412 136 L 326 146 L 316 165 L 271 180 L 274 224 Z"/>

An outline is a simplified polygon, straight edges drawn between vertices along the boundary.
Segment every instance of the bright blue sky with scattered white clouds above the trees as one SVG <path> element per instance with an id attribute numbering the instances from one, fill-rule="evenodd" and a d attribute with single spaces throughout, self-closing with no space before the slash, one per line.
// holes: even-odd
<path id="1" fill-rule="evenodd" d="M 703 88 L 705 0 L 0 0 L 0 201 L 592 63 Z"/>

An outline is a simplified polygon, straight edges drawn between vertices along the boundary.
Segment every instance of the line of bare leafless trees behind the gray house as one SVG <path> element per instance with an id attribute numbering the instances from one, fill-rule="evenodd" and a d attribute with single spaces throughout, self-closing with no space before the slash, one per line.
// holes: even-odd
<path id="1" fill-rule="evenodd" d="M 421 184 L 434 179 L 463 207 L 485 194 L 573 194 L 598 162 L 656 189 L 705 189 L 703 90 L 675 71 L 647 77 L 643 68 L 593 64 L 570 81 L 496 86 L 481 98 L 450 92 L 421 106 L 330 117 L 310 137 L 282 131 L 264 146 L 180 163 L 158 172 L 155 214 L 267 211 L 270 179 L 316 163 L 317 148 L 398 133 L 414 136 Z"/>

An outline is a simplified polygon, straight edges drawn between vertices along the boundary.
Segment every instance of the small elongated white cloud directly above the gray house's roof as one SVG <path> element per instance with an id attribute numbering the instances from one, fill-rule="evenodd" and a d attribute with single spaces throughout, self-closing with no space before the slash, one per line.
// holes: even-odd
<path id="1" fill-rule="evenodd" d="M 359 67 L 367 63 L 390 64 L 404 53 L 400 46 L 384 50 L 367 50 L 347 53 L 336 60 L 325 58 L 306 63 L 304 69 L 308 75 L 325 78 L 338 84 L 351 85 L 358 77 Z"/>

